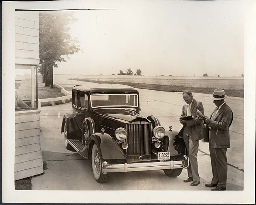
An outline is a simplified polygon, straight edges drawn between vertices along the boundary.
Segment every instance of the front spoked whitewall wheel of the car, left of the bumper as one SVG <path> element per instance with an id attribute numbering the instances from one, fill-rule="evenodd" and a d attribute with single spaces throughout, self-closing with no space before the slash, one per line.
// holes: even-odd
<path id="1" fill-rule="evenodd" d="M 105 183 L 108 180 L 109 174 L 102 173 L 102 158 L 96 144 L 93 145 L 91 152 L 91 165 L 93 168 L 93 176 L 98 183 Z"/>

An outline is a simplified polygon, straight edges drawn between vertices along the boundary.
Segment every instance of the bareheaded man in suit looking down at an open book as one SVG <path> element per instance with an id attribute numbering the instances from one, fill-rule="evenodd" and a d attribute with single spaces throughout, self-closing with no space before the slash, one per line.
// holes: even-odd
<path id="1" fill-rule="evenodd" d="M 198 174 L 197 165 L 197 152 L 199 147 L 199 140 L 202 139 L 202 130 L 204 128 L 204 123 L 202 118 L 198 118 L 197 109 L 204 113 L 204 107 L 200 101 L 193 98 L 191 91 L 186 90 L 182 93 L 183 99 L 186 104 L 182 107 L 181 117 L 192 116 L 191 120 L 182 120 L 180 122 L 183 124 L 183 139 L 186 144 L 188 157 L 189 157 L 189 167 L 187 169 L 188 179 L 184 182 L 191 182 L 191 186 L 197 186 L 200 184 L 200 177 Z"/>

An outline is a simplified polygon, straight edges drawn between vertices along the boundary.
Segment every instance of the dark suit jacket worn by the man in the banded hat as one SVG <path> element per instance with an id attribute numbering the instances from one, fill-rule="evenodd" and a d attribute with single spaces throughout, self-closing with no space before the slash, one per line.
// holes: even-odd
<path id="1" fill-rule="evenodd" d="M 211 113 L 211 116 L 213 112 Z M 224 103 L 215 115 L 214 120 L 211 120 L 208 124 L 211 128 L 210 140 L 215 149 L 230 148 L 229 127 L 232 121 L 233 112 L 230 107 Z"/>

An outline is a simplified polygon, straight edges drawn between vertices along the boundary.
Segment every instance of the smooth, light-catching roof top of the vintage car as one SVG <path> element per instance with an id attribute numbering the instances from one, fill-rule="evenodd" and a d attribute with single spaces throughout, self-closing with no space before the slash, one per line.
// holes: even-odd
<path id="1" fill-rule="evenodd" d="M 89 85 L 75 85 L 73 90 L 98 92 L 98 91 L 124 91 L 137 92 L 138 91 L 129 85 L 110 84 L 110 83 L 90 83 Z"/>

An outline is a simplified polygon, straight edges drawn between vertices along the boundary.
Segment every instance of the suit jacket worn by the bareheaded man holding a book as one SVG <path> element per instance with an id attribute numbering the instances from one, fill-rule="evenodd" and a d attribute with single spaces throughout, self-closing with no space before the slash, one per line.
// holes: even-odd
<path id="1" fill-rule="evenodd" d="M 187 116 L 187 104 L 182 107 L 181 116 Z M 191 104 L 191 116 L 193 116 L 193 120 L 187 120 L 186 125 L 184 126 L 184 134 L 188 134 L 191 136 L 193 140 L 202 140 L 203 134 L 202 131 L 204 129 L 204 123 L 201 119 L 197 117 L 199 114 L 197 109 L 204 114 L 204 107 L 200 101 L 193 100 Z"/>

